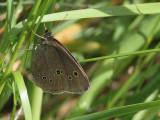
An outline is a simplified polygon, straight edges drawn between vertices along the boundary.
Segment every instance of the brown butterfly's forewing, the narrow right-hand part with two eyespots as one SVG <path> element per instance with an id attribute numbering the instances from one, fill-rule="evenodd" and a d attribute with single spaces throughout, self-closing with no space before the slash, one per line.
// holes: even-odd
<path id="1" fill-rule="evenodd" d="M 80 94 L 87 91 L 90 87 L 89 80 L 81 65 L 59 41 L 54 39 L 52 44 L 65 70 L 67 92 Z"/>

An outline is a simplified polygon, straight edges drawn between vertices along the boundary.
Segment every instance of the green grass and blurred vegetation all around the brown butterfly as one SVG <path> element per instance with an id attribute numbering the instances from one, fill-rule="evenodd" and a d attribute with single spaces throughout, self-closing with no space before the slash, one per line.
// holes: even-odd
<path id="1" fill-rule="evenodd" d="M 0 119 L 160 119 L 159 6 L 158 0 L 1 0 Z M 43 22 L 82 64 L 88 92 L 52 95 L 32 83 L 32 44 L 39 38 L 31 31 L 43 35 Z"/>

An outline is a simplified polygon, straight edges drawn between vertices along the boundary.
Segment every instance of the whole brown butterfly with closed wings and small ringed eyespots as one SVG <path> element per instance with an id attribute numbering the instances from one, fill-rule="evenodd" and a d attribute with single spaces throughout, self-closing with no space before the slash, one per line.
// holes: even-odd
<path id="1" fill-rule="evenodd" d="M 89 89 L 83 68 L 48 30 L 38 44 L 33 61 L 33 81 L 37 86 L 52 94 L 81 94 Z"/>

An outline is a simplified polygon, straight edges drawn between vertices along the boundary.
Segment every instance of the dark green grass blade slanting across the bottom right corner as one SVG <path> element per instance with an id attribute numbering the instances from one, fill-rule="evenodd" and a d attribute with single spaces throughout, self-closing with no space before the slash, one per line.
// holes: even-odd
<path id="1" fill-rule="evenodd" d="M 104 110 L 101 112 L 77 117 L 77 118 L 72 118 L 68 120 L 98 120 L 102 118 L 112 118 L 116 116 L 121 116 L 129 113 L 134 113 L 138 112 L 141 110 L 146 110 L 146 109 L 151 109 L 151 108 L 158 108 L 160 106 L 160 100 L 157 101 L 152 101 L 152 102 L 146 102 L 146 103 L 139 103 L 139 104 L 133 104 L 133 105 L 128 105 L 128 106 L 123 106 L 119 108 L 114 108 L 111 110 Z"/>

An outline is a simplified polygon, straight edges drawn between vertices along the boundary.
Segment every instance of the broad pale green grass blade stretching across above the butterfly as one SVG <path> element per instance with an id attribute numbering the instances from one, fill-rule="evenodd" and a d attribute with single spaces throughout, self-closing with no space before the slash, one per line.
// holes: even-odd
<path id="1" fill-rule="evenodd" d="M 138 15 L 138 14 L 141 15 L 142 13 L 155 14 L 155 13 L 160 13 L 159 6 L 160 6 L 160 3 L 144 3 L 144 4 L 122 5 L 122 6 L 113 6 L 113 7 L 105 7 L 105 8 L 72 10 L 72 11 L 45 15 L 41 22 L 63 20 L 64 16 L 66 16 L 67 14 L 68 16 L 65 18 L 65 20 L 94 18 L 94 17 Z M 15 25 L 14 28 L 9 32 L 9 35 L 18 34 L 18 32 L 20 32 L 20 30 L 23 28 L 24 23 L 25 21 L 22 21 L 17 25 Z"/>

